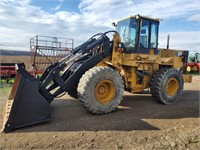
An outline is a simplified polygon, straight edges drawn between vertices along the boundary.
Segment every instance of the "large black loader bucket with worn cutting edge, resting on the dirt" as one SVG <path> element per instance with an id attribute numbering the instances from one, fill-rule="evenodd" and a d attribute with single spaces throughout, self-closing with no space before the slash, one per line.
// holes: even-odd
<path id="1" fill-rule="evenodd" d="M 39 93 L 39 83 L 16 65 L 17 74 L 5 110 L 3 132 L 48 121 L 51 118 L 49 103 Z"/>

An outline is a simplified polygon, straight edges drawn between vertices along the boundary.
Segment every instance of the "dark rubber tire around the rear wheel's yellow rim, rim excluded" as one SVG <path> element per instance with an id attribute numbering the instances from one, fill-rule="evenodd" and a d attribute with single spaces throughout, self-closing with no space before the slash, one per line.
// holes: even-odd
<path id="1" fill-rule="evenodd" d="M 178 80 L 178 90 L 174 96 L 169 96 L 166 93 L 166 82 L 170 78 L 176 78 Z M 163 68 L 158 70 L 152 77 L 150 81 L 150 90 L 152 97 L 163 103 L 163 104 L 172 104 L 177 102 L 183 93 L 183 78 L 180 71 L 173 68 Z"/>

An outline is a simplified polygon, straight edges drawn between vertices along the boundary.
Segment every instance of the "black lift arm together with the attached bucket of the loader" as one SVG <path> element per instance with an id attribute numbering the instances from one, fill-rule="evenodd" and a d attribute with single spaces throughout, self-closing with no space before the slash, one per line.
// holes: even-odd
<path id="1" fill-rule="evenodd" d="M 15 80 L 6 104 L 3 132 L 50 120 L 49 103 L 72 90 L 85 71 L 111 55 L 112 42 L 107 36 L 110 32 L 118 34 L 108 31 L 92 36 L 66 57 L 47 67 L 39 79 L 16 66 L 18 80 Z M 76 69 L 75 64 L 78 64 Z"/>

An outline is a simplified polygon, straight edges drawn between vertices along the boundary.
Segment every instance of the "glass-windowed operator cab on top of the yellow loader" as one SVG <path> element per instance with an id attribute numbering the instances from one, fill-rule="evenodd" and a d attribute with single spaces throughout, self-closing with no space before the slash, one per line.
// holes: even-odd
<path id="1" fill-rule="evenodd" d="M 124 44 L 125 53 L 158 53 L 159 19 L 131 16 L 117 22 L 116 30 Z"/>

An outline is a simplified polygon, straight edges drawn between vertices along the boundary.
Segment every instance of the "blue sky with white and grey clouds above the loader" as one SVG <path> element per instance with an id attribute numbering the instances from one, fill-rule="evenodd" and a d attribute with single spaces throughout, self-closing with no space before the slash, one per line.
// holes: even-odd
<path id="1" fill-rule="evenodd" d="M 79 45 L 112 22 L 140 14 L 161 18 L 159 47 L 200 51 L 200 0 L 1 0 L 0 49 L 29 50 L 35 35 Z"/>

